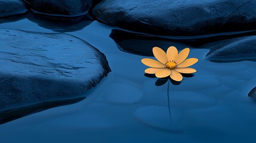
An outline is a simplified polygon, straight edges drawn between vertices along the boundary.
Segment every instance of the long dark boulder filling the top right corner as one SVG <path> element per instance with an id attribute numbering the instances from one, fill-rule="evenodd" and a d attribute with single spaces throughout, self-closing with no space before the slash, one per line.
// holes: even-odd
<path id="1" fill-rule="evenodd" d="M 256 29 L 255 0 L 103 0 L 92 14 L 110 26 L 191 36 Z"/>

